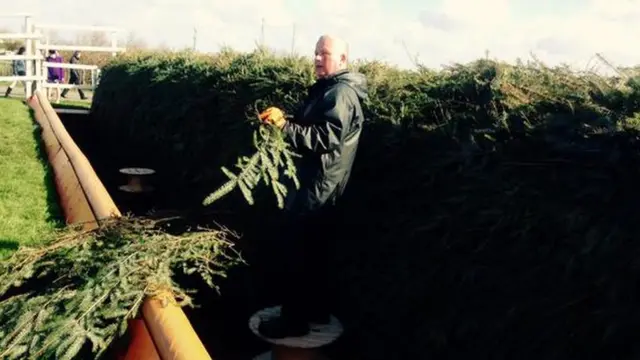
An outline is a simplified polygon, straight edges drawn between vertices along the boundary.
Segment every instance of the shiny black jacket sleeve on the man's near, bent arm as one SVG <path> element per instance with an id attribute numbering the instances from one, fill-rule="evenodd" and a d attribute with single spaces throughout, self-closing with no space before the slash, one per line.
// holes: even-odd
<path id="1" fill-rule="evenodd" d="M 331 152 L 342 144 L 352 112 L 347 92 L 340 87 L 330 91 L 321 100 L 316 118 L 311 125 L 287 122 L 284 132 L 295 149 L 311 150 L 315 153 Z"/>

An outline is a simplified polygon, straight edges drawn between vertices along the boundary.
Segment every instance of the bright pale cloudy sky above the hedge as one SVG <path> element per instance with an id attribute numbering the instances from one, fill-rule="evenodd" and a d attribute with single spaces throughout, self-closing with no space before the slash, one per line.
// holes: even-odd
<path id="1" fill-rule="evenodd" d="M 325 33 L 345 38 L 351 58 L 432 68 L 484 57 L 532 59 L 578 69 L 596 52 L 618 66 L 640 64 L 640 0 L 20 0 L 2 14 L 37 23 L 122 28 L 149 45 L 250 51 L 262 40 L 312 56 Z M 1 14 L 0 14 L 1 15 Z M 0 28 L 21 21 L 0 17 Z"/>

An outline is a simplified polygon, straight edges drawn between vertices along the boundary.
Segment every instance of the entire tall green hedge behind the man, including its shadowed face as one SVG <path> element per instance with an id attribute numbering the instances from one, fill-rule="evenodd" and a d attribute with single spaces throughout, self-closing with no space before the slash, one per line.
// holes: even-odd
<path id="1" fill-rule="evenodd" d="M 354 356 L 633 355 L 637 82 L 488 60 L 354 67 L 369 122 L 333 259 Z M 254 107 L 292 111 L 311 82 L 308 60 L 264 51 L 127 55 L 104 68 L 92 121 L 122 142 L 112 156 L 199 202 L 251 153 Z"/>

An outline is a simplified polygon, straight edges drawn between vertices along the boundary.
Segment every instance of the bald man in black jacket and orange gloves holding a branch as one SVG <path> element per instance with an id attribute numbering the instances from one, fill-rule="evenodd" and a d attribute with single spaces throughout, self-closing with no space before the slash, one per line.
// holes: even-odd
<path id="1" fill-rule="evenodd" d="M 355 159 L 364 116 L 361 101 L 367 97 L 366 78 L 347 70 L 348 45 L 324 35 L 316 44 L 317 81 L 307 99 L 287 121 L 275 107 L 264 111 L 262 121 L 284 131 L 294 150 L 300 189 L 290 188 L 283 227 L 288 269 L 279 318 L 264 321 L 260 333 L 272 339 L 309 333 L 310 323 L 328 323 L 324 298 L 329 242 L 339 235 L 336 203 L 342 195 Z"/>

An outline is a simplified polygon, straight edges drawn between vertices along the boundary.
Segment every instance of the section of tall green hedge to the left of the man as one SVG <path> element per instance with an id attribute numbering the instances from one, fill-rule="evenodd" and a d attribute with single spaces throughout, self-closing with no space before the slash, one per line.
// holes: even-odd
<path id="1" fill-rule="evenodd" d="M 246 114 L 254 102 L 264 99 L 257 104 L 264 108 L 284 101 L 290 109 L 312 79 L 310 70 L 296 60 L 255 68 L 264 58 L 123 58 L 103 70 L 92 105 L 94 121 L 107 136 L 139 149 L 144 163 L 161 174 L 171 173 L 178 187 L 200 185 L 212 191 L 224 179 L 220 166 L 233 165 L 251 144 L 253 124 Z M 290 75 L 282 75 L 285 71 Z M 271 88 L 274 79 L 280 91 Z M 150 158 L 162 161 L 156 164 Z"/>

